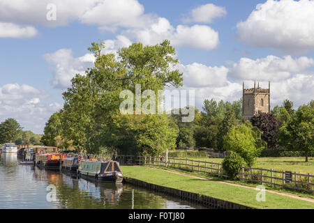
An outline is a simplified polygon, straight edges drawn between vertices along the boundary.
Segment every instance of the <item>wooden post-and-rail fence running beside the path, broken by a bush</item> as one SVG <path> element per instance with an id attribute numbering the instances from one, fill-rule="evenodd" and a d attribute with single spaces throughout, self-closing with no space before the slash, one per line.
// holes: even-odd
<path id="1" fill-rule="evenodd" d="M 197 173 L 209 174 L 228 178 L 223 172 L 222 164 L 219 162 L 207 162 L 200 160 L 190 160 L 188 158 L 151 157 L 134 155 L 93 155 L 83 154 L 83 157 L 94 158 L 98 160 L 117 160 L 121 165 L 147 165 L 155 167 L 171 167 Z M 276 171 L 273 169 L 264 169 L 256 167 L 241 167 L 239 180 L 252 183 L 260 183 L 271 187 L 285 187 L 294 190 L 303 190 L 314 192 L 314 175 L 298 174 L 291 171 Z"/>

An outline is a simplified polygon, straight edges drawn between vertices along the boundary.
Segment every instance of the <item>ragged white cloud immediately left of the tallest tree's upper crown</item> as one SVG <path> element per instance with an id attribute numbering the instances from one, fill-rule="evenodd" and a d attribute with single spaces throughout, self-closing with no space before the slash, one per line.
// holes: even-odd
<path id="1" fill-rule="evenodd" d="M 92 54 L 74 58 L 72 49 L 59 49 L 52 54 L 44 54 L 43 57 L 55 66 L 51 84 L 57 89 L 68 88 L 70 80 L 76 74 L 84 75 L 84 71 L 93 66 L 95 60 Z"/>

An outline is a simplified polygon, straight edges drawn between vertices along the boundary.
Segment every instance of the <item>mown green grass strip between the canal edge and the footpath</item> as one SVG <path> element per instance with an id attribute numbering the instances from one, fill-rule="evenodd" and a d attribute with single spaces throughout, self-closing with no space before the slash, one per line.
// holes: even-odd
<path id="1" fill-rule="evenodd" d="M 161 169 L 152 169 L 149 167 L 121 167 L 125 176 L 144 180 L 148 183 L 163 185 L 188 192 L 204 194 L 209 197 L 215 197 L 234 203 L 240 203 L 253 208 L 314 208 L 314 203 L 302 201 L 279 194 L 266 192 L 266 201 L 256 201 L 257 191 L 253 189 L 225 185 L 210 180 L 200 180 L 190 176 L 181 176 Z"/>

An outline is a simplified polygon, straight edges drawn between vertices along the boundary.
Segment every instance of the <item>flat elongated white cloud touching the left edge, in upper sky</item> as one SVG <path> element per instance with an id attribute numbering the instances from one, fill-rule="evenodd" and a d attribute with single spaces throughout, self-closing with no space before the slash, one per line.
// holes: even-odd
<path id="1" fill-rule="evenodd" d="M 19 26 L 17 24 L 0 22 L 0 38 L 32 38 L 38 31 L 33 26 Z"/>

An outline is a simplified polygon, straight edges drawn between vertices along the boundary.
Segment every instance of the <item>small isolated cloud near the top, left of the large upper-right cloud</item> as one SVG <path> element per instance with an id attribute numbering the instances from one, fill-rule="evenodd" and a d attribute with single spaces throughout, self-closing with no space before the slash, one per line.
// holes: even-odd
<path id="1" fill-rule="evenodd" d="M 215 6 L 212 3 L 206 5 L 198 6 L 190 11 L 188 17 L 184 17 L 182 22 L 200 22 L 200 23 L 211 23 L 217 17 L 222 17 L 227 15 L 225 8 L 220 6 Z"/>

